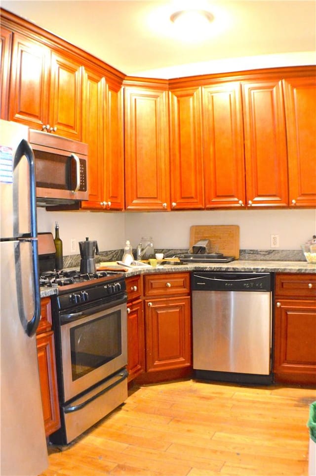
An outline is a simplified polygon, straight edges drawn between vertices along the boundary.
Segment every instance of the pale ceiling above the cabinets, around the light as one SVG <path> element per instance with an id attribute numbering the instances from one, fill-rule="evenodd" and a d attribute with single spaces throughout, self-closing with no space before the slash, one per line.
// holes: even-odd
<path id="1" fill-rule="evenodd" d="M 214 15 L 206 40 L 175 35 L 170 14 L 186 4 Z M 1 7 L 130 76 L 316 63 L 315 0 L 1 0 Z"/>

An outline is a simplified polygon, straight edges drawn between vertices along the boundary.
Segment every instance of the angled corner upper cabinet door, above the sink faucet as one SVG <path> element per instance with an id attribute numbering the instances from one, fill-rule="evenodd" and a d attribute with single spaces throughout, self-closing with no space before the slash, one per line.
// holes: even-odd
<path id="1" fill-rule="evenodd" d="M 125 88 L 125 208 L 170 210 L 167 91 Z"/>

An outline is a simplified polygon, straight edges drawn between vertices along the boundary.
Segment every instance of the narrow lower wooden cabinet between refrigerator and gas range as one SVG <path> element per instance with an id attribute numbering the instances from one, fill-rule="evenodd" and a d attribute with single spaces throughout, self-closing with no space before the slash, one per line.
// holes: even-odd
<path id="1" fill-rule="evenodd" d="M 54 333 L 51 330 L 50 299 L 41 299 L 41 317 L 36 342 L 40 373 L 40 392 L 46 436 L 60 428 Z"/>

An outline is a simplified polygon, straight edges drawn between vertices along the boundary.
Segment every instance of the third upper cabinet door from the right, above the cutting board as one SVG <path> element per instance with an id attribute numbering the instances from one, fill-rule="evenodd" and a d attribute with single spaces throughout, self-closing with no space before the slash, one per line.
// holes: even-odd
<path id="1" fill-rule="evenodd" d="M 240 83 L 202 88 L 205 208 L 245 204 Z"/>

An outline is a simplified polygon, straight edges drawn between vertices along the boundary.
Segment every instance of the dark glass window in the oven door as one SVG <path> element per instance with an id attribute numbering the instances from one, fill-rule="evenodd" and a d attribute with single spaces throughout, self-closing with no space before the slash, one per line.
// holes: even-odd
<path id="1" fill-rule="evenodd" d="M 121 354 L 120 311 L 99 317 L 70 330 L 73 381 Z"/>

